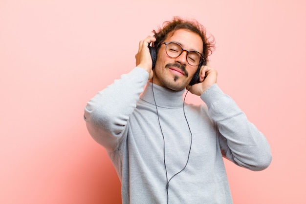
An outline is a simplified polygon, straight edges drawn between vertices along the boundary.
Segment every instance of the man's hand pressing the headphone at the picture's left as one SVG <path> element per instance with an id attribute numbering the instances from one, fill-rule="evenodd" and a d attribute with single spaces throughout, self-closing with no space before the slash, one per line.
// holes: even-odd
<path id="1" fill-rule="evenodd" d="M 146 39 L 139 42 L 138 52 L 135 55 L 136 66 L 145 69 L 149 73 L 149 79 L 153 78 L 152 58 L 149 50 L 149 44 L 156 41 L 155 37 L 148 36 Z"/>

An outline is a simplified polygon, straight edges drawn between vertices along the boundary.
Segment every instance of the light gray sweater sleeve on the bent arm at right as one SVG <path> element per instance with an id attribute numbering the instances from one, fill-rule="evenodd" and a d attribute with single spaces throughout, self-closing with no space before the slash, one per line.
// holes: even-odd
<path id="1" fill-rule="evenodd" d="M 260 171 L 272 160 L 270 146 L 263 134 L 249 122 L 236 102 L 214 84 L 202 95 L 208 113 L 219 129 L 222 155 L 239 166 Z"/>

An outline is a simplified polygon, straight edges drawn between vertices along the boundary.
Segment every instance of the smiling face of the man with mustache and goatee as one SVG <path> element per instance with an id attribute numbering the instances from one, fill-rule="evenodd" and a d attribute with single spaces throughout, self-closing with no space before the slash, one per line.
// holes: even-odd
<path id="1" fill-rule="evenodd" d="M 180 29 L 167 37 L 164 42 L 177 42 L 185 50 L 194 50 L 202 53 L 203 42 L 199 35 L 189 30 Z M 165 44 L 162 44 L 155 64 L 153 83 L 175 91 L 183 90 L 191 81 L 198 66 L 191 66 L 187 62 L 187 52 L 177 58 L 170 58 L 166 54 Z"/>

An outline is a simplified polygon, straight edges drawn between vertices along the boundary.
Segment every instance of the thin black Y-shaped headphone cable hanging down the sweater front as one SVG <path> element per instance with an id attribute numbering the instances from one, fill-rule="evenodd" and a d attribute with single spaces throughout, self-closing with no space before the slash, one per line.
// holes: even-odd
<path id="1" fill-rule="evenodd" d="M 190 126 L 189 126 L 189 123 L 188 123 L 188 120 L 187 120 L 187 117 L 186 117 L 186 114 L 185 114 L 185 99 L 186 99 L 186 96 L 187 96 L 187 93 L 189 92 L 189 90 L 187 90 L 186 94 L 185 94 L 185 97 L 184 97 L 184 101 L 183 101 L 183 112 L 184 112 L 184 116 L 185 116 L 185 120 L 187 122 L 187 125 L 188 125 L 188 129 L 189 129 L 189 132 L 190 132 L 190 135 L 191 135 L 191 141 L 190 141 L 190 147 L 189 147 L 189 152 L 188 152 L 188 158 L 187 158 L 187 162 L 184 166 L 184 168 L 182 168 L 182 170 L 178 171 L 177 173 L 175 173 L 175 175 L 173 175 L 169 181 L 168 181 L 168 173 L 167 173 L 167 166 L 166 166 L 166 156 L 165 156 L 165 136 L 164 136 L 164 133 L 163 133 L 163 130 L 161 128 L 161 125 L 160 125 L 160 120 L 159 120 L 159 115 L 158 115 L 158 109 L 157 109 L 157 105 L 156 105 L 156 101 L 155 101 L 155 96 L 154 96 L 154 91 L 153 91 L 153 79 L 152 79 L 152 93 L 153 93 L 153 100 L 154 100 L 154 103 L 155 103 L 155 107 L 156 107 L 156 114 L 157 114 L 157 118 L 158 118 L 158 123 L 159 123 L 159 127 L 160 127 L 160 131 L 161 131 L 161 134 L 163 136 L 163 143 L 164 143 L 164 147 L 163 147 L 163 151 L 164 151 L 164 165 L 165 165 L 165 171 L 166 171 L 166 181 L 167 181 L 167 184 L 166 184 L 166 190 L 167 190 L 167 204 L 169 203 L 169 194 L 168 194 L 168 189 L 169 189 L 169 183 L 170 181 L 179 173 L 181 173 L 187 166 L 188 162 L 189 162 L 189 157 L 190 157 L 190 152 L 191 152 L 191 145 L 192 145 L 192 132 L 191 132 L 191 129 L 190 129 Z"/>

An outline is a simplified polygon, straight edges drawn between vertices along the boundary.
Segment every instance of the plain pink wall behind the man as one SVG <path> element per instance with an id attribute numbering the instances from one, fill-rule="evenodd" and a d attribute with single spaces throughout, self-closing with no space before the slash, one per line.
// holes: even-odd
<path id="1" fill-rule="evenodd" d="M 234 203 L 306 202 L 305 0 L 0 0 L 1 204 L 121 202 L 83 110 L 175 15 L 215 36 L 219 86 L 272 148 L 262 172 L 225 162 Z"/>

